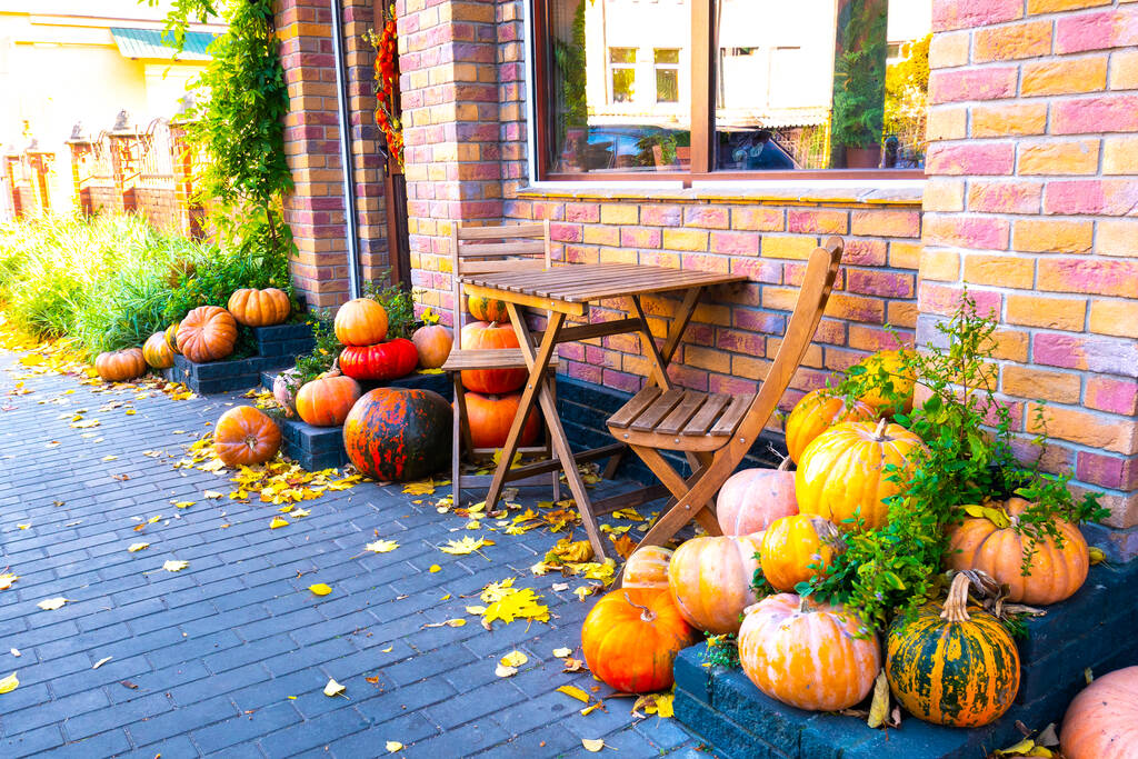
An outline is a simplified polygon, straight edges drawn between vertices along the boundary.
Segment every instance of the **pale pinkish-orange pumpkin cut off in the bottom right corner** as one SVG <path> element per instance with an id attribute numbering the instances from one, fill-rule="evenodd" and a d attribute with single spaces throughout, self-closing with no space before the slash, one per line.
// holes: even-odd
<path id="1" fill-rule="evenodd" d="M 1066 759 L 1138 757 L 1138 667 L 1095 678 L 1067 707 L 1059 745 Z"/>

